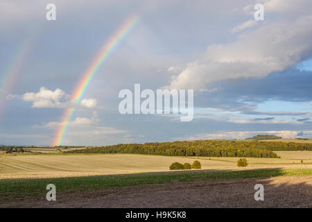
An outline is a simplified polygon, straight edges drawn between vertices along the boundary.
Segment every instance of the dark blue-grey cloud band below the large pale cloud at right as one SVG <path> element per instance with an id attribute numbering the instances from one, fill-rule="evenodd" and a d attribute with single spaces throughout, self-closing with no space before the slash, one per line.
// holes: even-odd
<path id="1" fill-rule="evenodd" d="M 291 69 L 264 78 L 225 80 L 210 88 L 216 91 L 198 94 L 197 106 L 240 110 L 245 114 L 302 115 L 309 112 L 257 112 L 254 106 L 268 100 L 312 101 L 312 71 Z"/>

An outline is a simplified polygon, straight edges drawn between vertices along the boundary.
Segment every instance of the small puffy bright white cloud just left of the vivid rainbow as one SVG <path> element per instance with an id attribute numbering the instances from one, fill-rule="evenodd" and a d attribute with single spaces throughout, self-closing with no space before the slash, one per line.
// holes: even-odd
<path id="1" fill-rule="evenodd" d="M 33 102 L 33 108 L 55 108 L 61 105 L 60 99 L 65 93 L 61 89 L 51 91 L 45 87 L 41 87 L 39 92 L 26 92 L 22 96 L 24 101 Z"/>

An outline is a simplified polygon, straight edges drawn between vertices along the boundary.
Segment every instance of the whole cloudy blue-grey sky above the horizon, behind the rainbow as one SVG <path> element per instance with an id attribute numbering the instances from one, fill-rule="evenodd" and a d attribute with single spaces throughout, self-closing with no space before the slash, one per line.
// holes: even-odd
<path id="1" fill-rule="evenodd" d="M 56 20 L 46 19 L 46 5 Z M 264 19 L 254 19 L 263 4 Z M 312 1 L 0 1 L 0 144 L 312 138 Z M 71 98 L 110 37 L 138 19 Z M 119 92 L 193 89 L 194 117 L 121 114 Z"/>

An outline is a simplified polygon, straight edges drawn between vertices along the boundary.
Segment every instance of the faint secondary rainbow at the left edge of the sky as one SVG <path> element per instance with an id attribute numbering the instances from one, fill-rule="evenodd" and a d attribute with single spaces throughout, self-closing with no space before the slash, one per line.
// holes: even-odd
<path id="1" fill-rule="evenodd" d="M 0 115 L 3 112 L 4 105 L 6 103 L 6 96 L 10 94 L 12 91 L 13 86 L 17 81 L 17 77 L 21 67 L 24 65 L 24 62 L 27 58 L 28 52 L 32 46 L 32 38 L 24 40 L 19 50 L 17 51 L 16 56 L 10 62 L 10 66 L 8 70 L 5 72 L 3 78 L 1 78 L 0 82 Z"/>

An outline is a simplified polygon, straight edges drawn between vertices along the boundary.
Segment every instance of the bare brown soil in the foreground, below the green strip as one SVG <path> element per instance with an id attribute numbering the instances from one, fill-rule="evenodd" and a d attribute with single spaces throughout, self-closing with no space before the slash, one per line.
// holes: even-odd
<path id="1" fill-rule="evenodd" d="M 264 200 L 254 200 L 254 185 Z M 312 207 L 312 176 L 196 180 L 115 187 L 57 195 L 56 201 L 26 199 L 0 207 Z"/>

